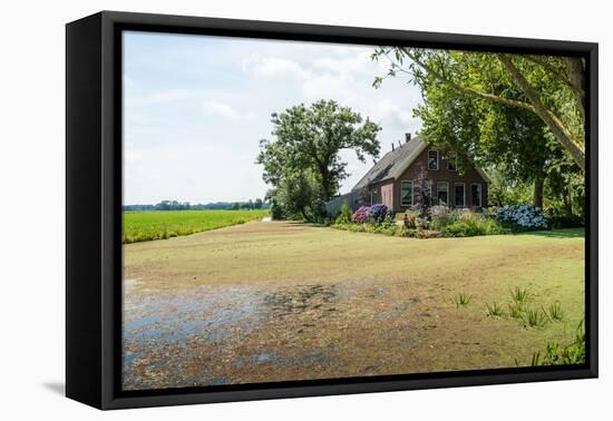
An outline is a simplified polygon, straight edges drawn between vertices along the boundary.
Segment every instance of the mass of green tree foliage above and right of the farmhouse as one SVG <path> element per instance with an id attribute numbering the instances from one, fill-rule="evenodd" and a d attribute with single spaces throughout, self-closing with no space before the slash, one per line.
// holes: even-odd
<path id="1" fill-rule="evenodd" d="M 584 214 L 581 59 L 376 49 L 372 58 L 381 57 L 391 66 L 373 85 L 410 75 L 424 97 L 415 114 L 422 121 L 425 138 L 439 150 L 456 151 L 460 172 L 477 164 L 498 173 L 489 190 L 493 205 L 531 199 L 552 215 Z M 539 98 L 542 107 L 535 106 L 534 98 Z M 562 131 L 543 117 L 547 112 L 537 111 L 543 108 L 558 118 Z"/>

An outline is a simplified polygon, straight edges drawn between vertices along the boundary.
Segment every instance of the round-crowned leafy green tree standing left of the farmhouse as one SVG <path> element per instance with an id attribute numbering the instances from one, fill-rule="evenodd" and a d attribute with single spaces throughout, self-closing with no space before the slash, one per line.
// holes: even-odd
<path id="1" fill-rule="evenodd" d="M 304 174 L 314 178 L 319 199 L 327 202 L 348 176 L 341 150 L 353 150 L 361 161 L 379 155 L 379 125 L 333 100 L 291 107 L 273 114 L 271 121 L 273 138 L 260 140 L 256 163 L 264 166 L 264 180 L 276 192 L 284 180 Z"/>

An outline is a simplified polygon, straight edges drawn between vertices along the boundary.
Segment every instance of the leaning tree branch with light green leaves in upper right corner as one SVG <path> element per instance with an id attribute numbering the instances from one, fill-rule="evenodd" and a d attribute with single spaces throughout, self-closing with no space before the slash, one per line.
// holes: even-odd
<path id="1" fill-rule="evenodd" d="M 427 89 L 446 86 L 466 97 L 528 111 L 585 170 L 585 63 L 581 58 L 385 47 L 390 68 Z M 517 95 L 519 92 L 519 95 Z M 543 140 L 545 141 L 545 139 Z"/>

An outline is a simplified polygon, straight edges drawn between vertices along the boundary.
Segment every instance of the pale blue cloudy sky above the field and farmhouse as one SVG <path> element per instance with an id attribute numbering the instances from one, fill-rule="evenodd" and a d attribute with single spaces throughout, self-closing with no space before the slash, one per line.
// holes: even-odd
<path id="1" fill-rule="evenodd" d="M 388 63 L 372 46 L 124 32 L 124 204 L 264 197 L 255 164 L 272 112 L 334 99 L 382 130 L 379 157 L 420 128 L 419 90 L 402 77 L 374 89 Z M 347 193 L 372 166 L 341 151 Z"/>

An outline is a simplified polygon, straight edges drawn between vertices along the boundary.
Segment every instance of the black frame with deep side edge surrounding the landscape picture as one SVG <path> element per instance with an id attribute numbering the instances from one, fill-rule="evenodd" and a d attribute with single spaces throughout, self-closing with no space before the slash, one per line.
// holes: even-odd
<path id="1" fill-rule="evenodd" d="M 121 391 L 123 30 L 411 45 L 586 60 L 586 364 Z M 66 27 L 66 394 L 98 409 L 597 376 L 597 43 L 103 11 Z"/>

